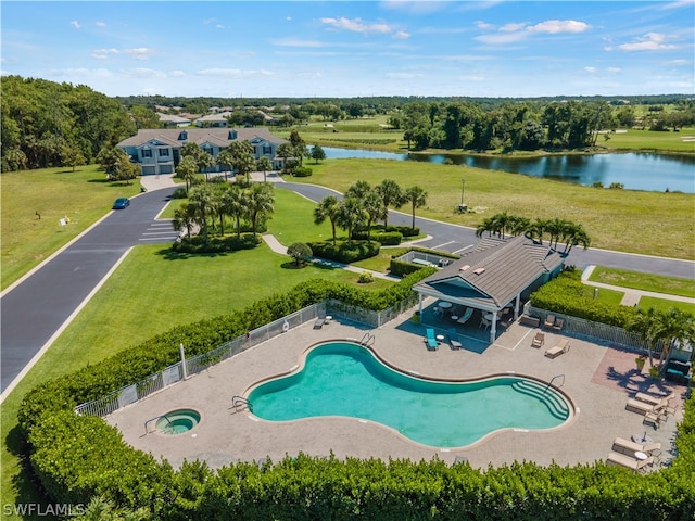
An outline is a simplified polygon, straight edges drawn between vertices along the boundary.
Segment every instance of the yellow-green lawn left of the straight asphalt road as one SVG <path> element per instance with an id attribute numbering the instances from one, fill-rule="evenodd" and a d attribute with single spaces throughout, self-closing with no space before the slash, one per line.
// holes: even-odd
<path id="1" fill-rule="evenodd" d="M 2 290 L 103 217 L 116 198 L 140 192 L 137 180 L 106 181 L 98 165 L 3 171 L 0 182 Z"/>

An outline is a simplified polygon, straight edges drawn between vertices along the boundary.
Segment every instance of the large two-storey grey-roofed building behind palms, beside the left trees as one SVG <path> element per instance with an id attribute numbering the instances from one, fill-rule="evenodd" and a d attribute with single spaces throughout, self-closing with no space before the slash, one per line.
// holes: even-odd
<path id="1" fill-rule="evenodd" d="M 181 161 L 181 148 L 186 143 L 197 143 L 217 157 L 233 141 L 249 141 L 256 160 L 268 157 L 274 169 L 282 168 L 283 158 L 277 155 L 277 149 L 287 140 L 274 136 L 267 128 L 140 129 L 136 136 L 124 139 L 117 147 L 140 165 L 141 175 L 149 176 L 176 171 Z M 222 168 L 216 166 L 210 171 L 222 171 Z"/>

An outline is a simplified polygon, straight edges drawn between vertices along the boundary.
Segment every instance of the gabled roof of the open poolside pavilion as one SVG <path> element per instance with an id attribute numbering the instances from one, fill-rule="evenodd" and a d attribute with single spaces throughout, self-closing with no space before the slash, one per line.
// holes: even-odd
<path id="1" fill-rule="evenodd" d="M 413 289 L 480 309 L 502 309 L 539 277 L 561 266 L 565 257 L 548 243 L 523 236 L 485 238 Z"/>

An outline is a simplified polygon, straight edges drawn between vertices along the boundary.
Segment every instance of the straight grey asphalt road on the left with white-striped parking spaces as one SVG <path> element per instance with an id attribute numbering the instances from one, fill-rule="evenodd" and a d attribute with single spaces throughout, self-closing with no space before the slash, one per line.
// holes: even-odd
<path id="1" fill-rule="evenodd" d="M 154 217 L 172 190 L 138 195 L 114 211 L 0 300 L 2 392 L 131 246 L 173 242 L 175 232 Z"/>

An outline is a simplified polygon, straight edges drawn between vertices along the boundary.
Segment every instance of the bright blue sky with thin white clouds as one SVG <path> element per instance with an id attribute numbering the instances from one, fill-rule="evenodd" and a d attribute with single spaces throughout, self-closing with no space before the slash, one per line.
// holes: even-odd
<path id="1" fill-rule="evenodd" d="M 2 75 L 106 96 L 694 93 L 695 0 L 0 2 Z"/>

